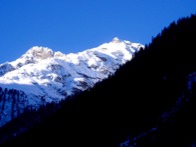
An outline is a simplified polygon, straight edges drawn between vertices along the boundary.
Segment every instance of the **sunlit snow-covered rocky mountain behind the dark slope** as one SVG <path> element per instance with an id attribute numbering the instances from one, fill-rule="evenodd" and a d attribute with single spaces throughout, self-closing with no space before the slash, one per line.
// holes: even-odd
<path id="1" fill-rule="evenodd" d="M 17 109 L 11 107 L 15 100 L 0 99 L 0 126 L 27 106 L 38 108 L 48 102 L 59 102 L 92 87 L 131 60 L 141 47 L 117 37 L 96 48 L 67 55 L 35 46 L 19 59 L 0 64 L 0 87 L 24 92 L 22 101 L 17 101 L 21 104 Z"/>

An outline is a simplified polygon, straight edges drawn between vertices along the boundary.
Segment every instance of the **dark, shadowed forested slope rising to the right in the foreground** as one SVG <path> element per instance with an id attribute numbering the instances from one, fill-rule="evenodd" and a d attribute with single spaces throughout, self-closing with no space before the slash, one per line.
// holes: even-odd
<path id="1" fill-rule="evenodd" d="M 13 138 L 5 145 L 195 146 L 195 27 L 195 15 L 171 23 L 131 62 L 60 102 L 60 109 L 46 105 L 13 120 L 0 131 L 1 138 Z M 33 129 L 17 134 L 29 123 Z"/>

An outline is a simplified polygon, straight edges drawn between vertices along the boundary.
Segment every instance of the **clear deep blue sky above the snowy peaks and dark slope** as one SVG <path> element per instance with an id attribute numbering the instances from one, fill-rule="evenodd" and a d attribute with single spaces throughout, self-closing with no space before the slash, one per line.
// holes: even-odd
<path id="1" fill-rule="evenodd" d="M 67 54 L 114 37 L 148 44 L 163 27 L 195 13 L 195 0 L 0 0 L 0 63 L 32 46 Z"/>

